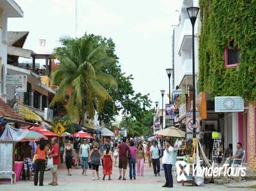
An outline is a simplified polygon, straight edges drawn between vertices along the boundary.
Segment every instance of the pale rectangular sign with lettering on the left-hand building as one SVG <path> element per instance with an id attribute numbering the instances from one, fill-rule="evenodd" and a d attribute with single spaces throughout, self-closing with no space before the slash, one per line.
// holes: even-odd
<path id="1" fill-rule="evenodd" d="M 26 75 L 7 75 L 6 85 L 15 86 L 16 92 L 27 91 L 27 76 Z"/>

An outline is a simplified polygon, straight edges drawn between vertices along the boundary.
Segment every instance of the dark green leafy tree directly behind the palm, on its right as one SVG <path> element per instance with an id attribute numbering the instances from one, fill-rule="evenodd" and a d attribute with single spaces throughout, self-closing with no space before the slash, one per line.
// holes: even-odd
<path id="1" fill-rule="evenodd" d="M 118 57 L 115 55 L 115 44 L 113 40 L 102 38 L 101 35 L 94 35 L 94 44 L 103 44 L 106 47 L 106 53 L 108 57 L 112 57 L 116 62 L 112 65 L 104 65 L 103 72 L 114 76 L 118 89 L 107 89 L 112 100 L 107 100 L 103 107 L 103 111 L 99 113 L 99 119 L 102 119 L 105 124 L 110 126 L 111 121 L 114 121 L 114 117 L 122 111 L 125 116 L 135 117 L 136 119 L 142 119 L 142 115 L 146 113 L 146 108 L 151 106 L 151 100 L 148 95 L 142 95 L 142 93 L 136 93 L 133 90 L 131 80 L 132 75 L 127 75 L 121 71 L 120 64 L 118 63 Z"/>

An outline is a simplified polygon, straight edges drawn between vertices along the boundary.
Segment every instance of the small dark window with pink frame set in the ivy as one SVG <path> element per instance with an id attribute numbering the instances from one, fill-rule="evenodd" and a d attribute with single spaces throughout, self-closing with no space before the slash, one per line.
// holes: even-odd
<path id="1" fill-rule="evenodd" d="M 225 67 L 236 67 L 240 63 L 240 50 L 238 47 L 225 49 Z"/>

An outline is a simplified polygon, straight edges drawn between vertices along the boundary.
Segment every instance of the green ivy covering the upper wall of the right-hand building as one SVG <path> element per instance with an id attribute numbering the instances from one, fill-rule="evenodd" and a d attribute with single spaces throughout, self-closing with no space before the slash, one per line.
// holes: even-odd
<path id="1" fill-rule="evenodd" d="M 199 87 L 212 98 L 239 95 L 256 101 L 256 0 L 200 0 Z M 225 48 L 240 49 L 240 63 L 225 68 Z"/>

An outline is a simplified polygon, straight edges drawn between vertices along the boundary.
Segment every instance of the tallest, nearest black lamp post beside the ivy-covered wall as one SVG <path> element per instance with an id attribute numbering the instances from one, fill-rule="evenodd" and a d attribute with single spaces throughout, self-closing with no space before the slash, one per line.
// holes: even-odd
<path id="1" fill-rule="evenodd" d="M 193 76 L 193 138 L 196 137 L 196 82 L 194 74 L 194 23 L 196 23 L 199 8 L 187 8 L 188 16 L 192 24 L 192 76 Z"/>

